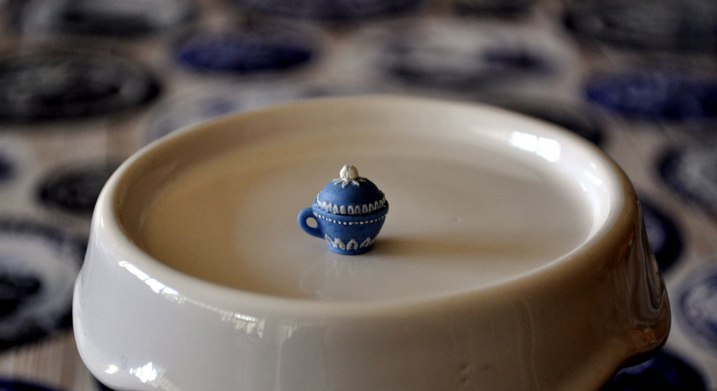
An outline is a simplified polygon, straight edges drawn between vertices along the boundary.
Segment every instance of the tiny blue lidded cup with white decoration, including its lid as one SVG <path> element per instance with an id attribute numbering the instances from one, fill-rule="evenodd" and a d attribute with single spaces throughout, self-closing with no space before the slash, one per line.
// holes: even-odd
<path id="1" fill-rule="evenodd" d="M 388 212 L 384 193 L 347 164 L 339 178 L 318 193 L 313 205 L 300 211 L 297 220 L 306 233 L 325 239 L 329 250 L 355 255 L 373 248 Z M 310 218 L 316 226 L 308 225 Z"/>

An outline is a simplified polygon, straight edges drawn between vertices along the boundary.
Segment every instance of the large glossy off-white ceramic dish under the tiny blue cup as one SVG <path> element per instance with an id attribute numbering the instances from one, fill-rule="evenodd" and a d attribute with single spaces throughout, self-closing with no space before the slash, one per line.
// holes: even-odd
<path id="1" fill-rule="evenodd" d="M 374 249 L 296 215 L 352 163 Z M 569 132 L 481 105 L 308 100 L 177 132 L 105 186 L 77 346 L 116 390 L 597 390 L 670 326 L 635 190 Z"/>

